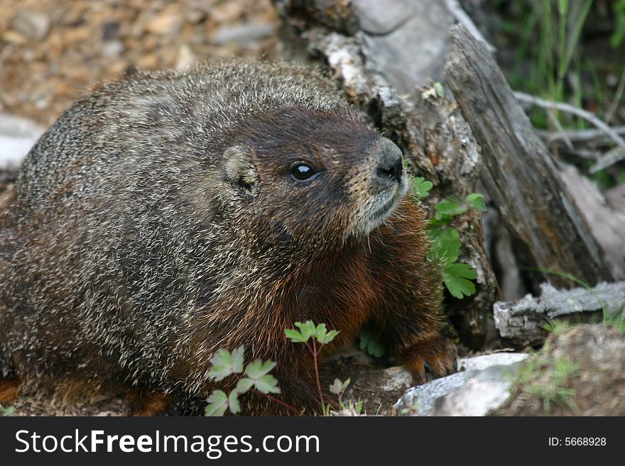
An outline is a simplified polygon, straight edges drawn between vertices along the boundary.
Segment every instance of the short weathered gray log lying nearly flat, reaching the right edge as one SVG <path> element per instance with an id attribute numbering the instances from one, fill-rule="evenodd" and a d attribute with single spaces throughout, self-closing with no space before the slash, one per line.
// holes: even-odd
<path id="1" fill-rule="evenodd" d="M 623 312 L 625 282 L 600 283 L 585 288 L 558 290 L 541 284 L 539 297 L 527 295 L 515 303 L 494 304 L 495 325 L 508 343 L 517 348 L 538 345 L 547 338 L 545 326 L 555 318 L 570 321 L 602 321 L 604 310 L 610 316 Z"/>

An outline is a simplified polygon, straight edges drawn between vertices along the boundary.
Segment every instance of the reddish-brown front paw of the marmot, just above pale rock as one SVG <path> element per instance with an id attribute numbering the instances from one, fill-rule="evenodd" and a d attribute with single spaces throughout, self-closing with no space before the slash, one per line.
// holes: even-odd
<path id="1" fill-rule="evenodd" d="M 403 352 L 403 363 L 419 384 L 426 381 L 425 370 L 434 377 L 453 374 L 457 368 L 457 352 L 453 343 L 442 338 L 426 340 L 412 345 Z"/>

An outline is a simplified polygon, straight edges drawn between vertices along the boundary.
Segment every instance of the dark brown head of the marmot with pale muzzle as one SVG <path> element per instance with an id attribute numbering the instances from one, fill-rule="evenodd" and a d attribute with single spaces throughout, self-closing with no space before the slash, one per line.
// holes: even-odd
<path id="1" fill-rule="evenodd" d="M 248 128 L 225 163 L 268 241 L 323 248 L 366 237 L 406 194 L 401 151 L 352 111 L 283 109 Z"/>

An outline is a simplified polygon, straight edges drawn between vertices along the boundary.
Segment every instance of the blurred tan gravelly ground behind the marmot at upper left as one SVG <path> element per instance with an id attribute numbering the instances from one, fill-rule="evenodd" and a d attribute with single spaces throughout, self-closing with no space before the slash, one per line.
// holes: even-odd
<path id="1" fill-rule="evenodd" d="M 97 82 L 275 57 L 270 0 L 0 0 L 0 111 L 48 126 Z"/>

